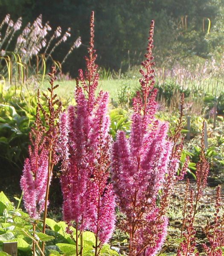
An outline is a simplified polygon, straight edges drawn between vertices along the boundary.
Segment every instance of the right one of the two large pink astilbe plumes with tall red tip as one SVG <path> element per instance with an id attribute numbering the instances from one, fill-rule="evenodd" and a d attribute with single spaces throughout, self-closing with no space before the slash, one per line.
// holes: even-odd
<path id="1" fill-rule="evenodd" d="M 154 21 L 140 73 L 141 92 L 134 98 L 131 135 L 120 131 L 113 144 L 112 179 L 119 207 L 126 214 L 130 256 L 154 256 L 166 238 L 168 220 L 157 205 L 158 192 L 168 173 L 172 143 L 168 125 L 154 116 L 157 110 L 152 57 Z M 177 172 L 177 164 L 174 171 Z"/>

